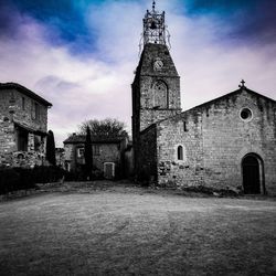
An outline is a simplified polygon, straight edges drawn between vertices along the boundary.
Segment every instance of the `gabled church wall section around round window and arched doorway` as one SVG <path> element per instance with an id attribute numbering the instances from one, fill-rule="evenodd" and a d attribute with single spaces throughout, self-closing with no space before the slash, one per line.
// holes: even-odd
<path id="1" fill-rule="evenodd" d="M 241 119 L 243 108 L 252 110 L 251 120 Z M 273 102 L 246 91 L 201 108 L 205 184 L 241 189 L 242 159 L 256 153 L 264 161 L 266 189 L 276 193 L 275 108 Z"/>

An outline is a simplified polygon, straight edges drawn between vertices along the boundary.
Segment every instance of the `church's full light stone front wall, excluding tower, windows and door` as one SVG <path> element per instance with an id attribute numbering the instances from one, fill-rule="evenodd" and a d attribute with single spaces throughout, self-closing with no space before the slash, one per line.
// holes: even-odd
<path id="1" fill-rule="evenodd" d="M 241 110 L 252 118 L 241 118 Z M 254 153 L 263 160 L 261 192 L 276 194 L 276 105 L 243 91 L 194 107 L 157 124 L 158 182 L 243 189 L 242 160 Z M 177 147 L 184 151 L 177 158 Z M 261 171 L 262 174 L 262 171 Z"/>

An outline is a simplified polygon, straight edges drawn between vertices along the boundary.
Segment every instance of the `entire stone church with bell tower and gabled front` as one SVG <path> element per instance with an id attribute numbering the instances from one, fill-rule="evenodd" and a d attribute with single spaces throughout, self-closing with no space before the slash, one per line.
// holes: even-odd
<path id="1" fill-rule="evenodd" d="M 276 194 L 276 102 L 245 86 L 181 112 L 164 12 L 144 18 L 132 83 L 135 172 L 160 185 Z"/>

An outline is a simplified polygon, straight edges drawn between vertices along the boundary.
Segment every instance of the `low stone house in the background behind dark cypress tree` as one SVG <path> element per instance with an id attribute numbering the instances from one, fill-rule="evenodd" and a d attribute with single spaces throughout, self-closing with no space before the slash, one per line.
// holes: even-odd
<path id="1" fill-rule="evenodd" d="M 65 169 L 82 173 L 85 164 L 85 136 L 73 134 L 63 144 Z M 123 177 L 126 147 L 125 137 L 92 137 L 94 171 L 102 172 L 108 179 Z"/>

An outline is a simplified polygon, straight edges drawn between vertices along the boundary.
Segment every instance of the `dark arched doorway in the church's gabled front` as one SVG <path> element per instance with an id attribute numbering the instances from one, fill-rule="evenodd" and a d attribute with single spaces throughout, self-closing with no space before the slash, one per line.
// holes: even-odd
<path id="1" fill-rule="evenodd" d="M 263 178 L 263 161 L 256 155 L 247 155 L 242 161 L 243 188 L 244 193 L 261 193 L 261 183 Z"/>

